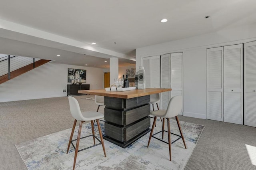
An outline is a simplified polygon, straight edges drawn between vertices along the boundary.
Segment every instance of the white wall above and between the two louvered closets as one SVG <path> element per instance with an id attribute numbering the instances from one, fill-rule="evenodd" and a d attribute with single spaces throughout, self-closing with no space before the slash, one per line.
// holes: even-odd
<path id="1" fill-rule="evenodd" d="M 206 48 L 256 40 L 256 24 L 136 49 L 136 69 L 143 57 L 183 52 L 183 113 L 206 119 Z M 171 34 L 171 33 L 170 33 Z"/>

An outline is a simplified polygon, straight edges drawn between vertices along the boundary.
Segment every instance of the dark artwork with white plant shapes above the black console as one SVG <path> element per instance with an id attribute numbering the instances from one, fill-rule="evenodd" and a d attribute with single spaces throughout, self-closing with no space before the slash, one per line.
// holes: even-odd
<path id="1" fill-rule="evenodd" d="M 86 70 L 68 68 L 68 82 L 71 84 L 86 83 Z"/>

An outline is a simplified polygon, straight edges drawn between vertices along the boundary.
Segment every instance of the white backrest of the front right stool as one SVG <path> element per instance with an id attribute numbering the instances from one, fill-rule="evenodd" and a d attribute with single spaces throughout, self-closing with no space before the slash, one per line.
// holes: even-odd
<path id="1" fill-rule="evenodd" d="M 174 96 L 170 99 L 164 117 L 176 117 L 182 110 L 182 96 Z"/>

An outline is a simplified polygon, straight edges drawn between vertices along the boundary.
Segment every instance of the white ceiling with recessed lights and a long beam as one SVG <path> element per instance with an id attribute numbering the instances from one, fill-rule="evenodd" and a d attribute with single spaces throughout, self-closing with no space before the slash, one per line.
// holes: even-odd
<path id="1" fill-rule="evenodd" d="M 137 48 L 253 24 L 255 9 L 256 0 L 1 0 L 0 53 L 98 68 L 111 57 L 135 64 Z"/>

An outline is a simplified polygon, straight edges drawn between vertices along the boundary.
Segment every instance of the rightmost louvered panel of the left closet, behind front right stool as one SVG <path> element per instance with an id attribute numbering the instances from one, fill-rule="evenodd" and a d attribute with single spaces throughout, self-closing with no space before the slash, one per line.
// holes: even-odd
<path id="1" fill-rule="evenodd" d="M 172 89 L 171 98 L 183 96 L 183 53 L 171 53 L 170 85 Z M 180 115 L 183 115 L 183 111 Z"/>

